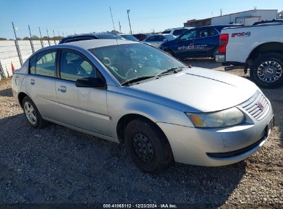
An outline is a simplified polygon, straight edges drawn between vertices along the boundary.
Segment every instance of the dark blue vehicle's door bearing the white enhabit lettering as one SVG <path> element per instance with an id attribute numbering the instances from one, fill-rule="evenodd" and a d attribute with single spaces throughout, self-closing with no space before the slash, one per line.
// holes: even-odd
<path id="1" fill-rule="evenodd" d="M 182 36 L 179 36 L 174 47 L 174 54 L 180 57 L 194 56 L 194 41 L 196 39 L 196 29 L 188 30 Z"/>

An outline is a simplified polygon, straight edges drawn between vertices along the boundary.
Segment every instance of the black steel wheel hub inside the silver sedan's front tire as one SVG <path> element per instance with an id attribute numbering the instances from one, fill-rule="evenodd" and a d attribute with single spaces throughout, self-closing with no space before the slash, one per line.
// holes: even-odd
<path id="1" fill-rule="evenodd" d="M 143 162 L 149 163 L 154 161 L 154 146 L 152 146 L 151 142 L 149 142 L 147 136 L 143 133 L 137 133 L 133 137 L 133 145 L 136 155 Z"/>

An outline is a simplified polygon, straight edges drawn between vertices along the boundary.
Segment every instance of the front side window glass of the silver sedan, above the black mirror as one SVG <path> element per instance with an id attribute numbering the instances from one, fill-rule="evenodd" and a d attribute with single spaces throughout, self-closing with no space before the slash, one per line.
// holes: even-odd
<path id="1" fill-rule="evenodd" d="M 97 69 L 83 56 L 69 50 L 62 50 L 60 58 L 60 78 L 76 82 L 80 78 L 96 78 Z"/>

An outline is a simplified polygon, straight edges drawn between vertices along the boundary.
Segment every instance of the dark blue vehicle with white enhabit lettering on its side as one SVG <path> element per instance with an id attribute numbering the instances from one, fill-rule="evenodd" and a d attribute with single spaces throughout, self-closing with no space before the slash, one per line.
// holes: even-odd
<path id="1" fill-rule="evenodd" d="M 215 58 L 222 28 L 238 25 L 209 25 L 188 30 L 177 39 L 160 45 L 160 49 L 178 58 Z"/>

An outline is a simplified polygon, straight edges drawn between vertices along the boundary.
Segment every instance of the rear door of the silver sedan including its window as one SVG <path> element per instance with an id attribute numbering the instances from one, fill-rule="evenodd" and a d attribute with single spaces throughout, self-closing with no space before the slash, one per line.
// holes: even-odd
<path id="1" fill-rule="evenodd" d="M 45 50 L 30 58 L 26 91 L 43 117 L 58 119 L 56 102 L 56 54 L 57 50 Z"/>

